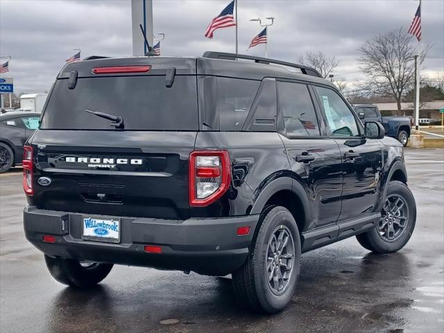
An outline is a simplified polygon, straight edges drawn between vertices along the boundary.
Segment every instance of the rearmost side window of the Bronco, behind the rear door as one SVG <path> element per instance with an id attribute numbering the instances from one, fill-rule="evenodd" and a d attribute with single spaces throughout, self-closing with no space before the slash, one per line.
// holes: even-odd
<path id="1" fill-rule="evenodd" d="M 260 81 L 219 77 L 216 80 L 220 130 L 242 130 Z"/>

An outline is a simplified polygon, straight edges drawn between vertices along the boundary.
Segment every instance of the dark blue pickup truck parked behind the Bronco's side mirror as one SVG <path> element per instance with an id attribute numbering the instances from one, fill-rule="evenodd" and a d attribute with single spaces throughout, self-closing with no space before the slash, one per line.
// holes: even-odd
<path id="1" fill-rule="evenodd" d="M 409 141 L 413 118 L 411 117 L 382 117 L 376 105 L 359 104 L 352 105 L 359 119 L 363 123 L 366 121 L 378 121 L 386 129 L 388 137 L 394 137 L 405 147 Z"/>

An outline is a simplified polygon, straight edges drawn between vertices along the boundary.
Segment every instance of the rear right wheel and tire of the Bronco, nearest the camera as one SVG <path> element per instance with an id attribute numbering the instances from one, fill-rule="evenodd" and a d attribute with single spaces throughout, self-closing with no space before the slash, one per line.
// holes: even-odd
<path id="1" fill-rule="evenodd" d="M 278 238 L 281 234 L 284 234 L 282 240 L 283 243 L 287 240 L 287 245 L 282 250 L 281 242 L 281 246 L 277 248 L 281 248 L 282 253 L 269 260 L 269 255 L 273 256 L 272 244 L 279 244 Z M 277 248 L 274 247 L 275 250 Z M 283 260 L 282 263 L 279 258 Z M 268 267 L 270 269 L 267 270 Z M 272 269 L 275 267 L 278 268 Z M 287 270 L 288 267 L 291 268 Z M 282 276 L 282 284 L 279 271 Z M 299 272 L 300 237 L 298 225 L 286 208 L 267 207 L 259 219 L 248 259 L 244 266 L 232 273 L 234 293 L 241 303 L 253 311 L 272 314 L 281 311 L 289 304 L 296 289 Z M 273 276 L 271 281 L 268 280 L 268 274 Z M 275 276 L 278 283 L 275 282 Z M 287 282 L 284 278 L 287 278 Z"/>

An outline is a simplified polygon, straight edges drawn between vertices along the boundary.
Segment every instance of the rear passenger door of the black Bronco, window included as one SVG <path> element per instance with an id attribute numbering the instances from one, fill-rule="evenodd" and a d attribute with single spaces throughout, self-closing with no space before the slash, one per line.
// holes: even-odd
<path id="1" fill-rule="evenodd" d="M 305 188 L 311 209 L 308 229 L 336 223 L 341 212 L 341 156 L 325 135 L 309 86 L 277 81 L 278 131 L 291 171 Z"/>

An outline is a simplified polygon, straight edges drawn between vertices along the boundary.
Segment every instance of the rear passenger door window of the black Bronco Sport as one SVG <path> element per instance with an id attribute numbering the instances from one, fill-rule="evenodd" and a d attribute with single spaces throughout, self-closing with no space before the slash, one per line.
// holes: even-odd
<path id="1" fill-rule="evenodd" d="M 307 85 L 278 82 L 278 108 L 290 136 L 319 136 L 318 119 Z"/>

